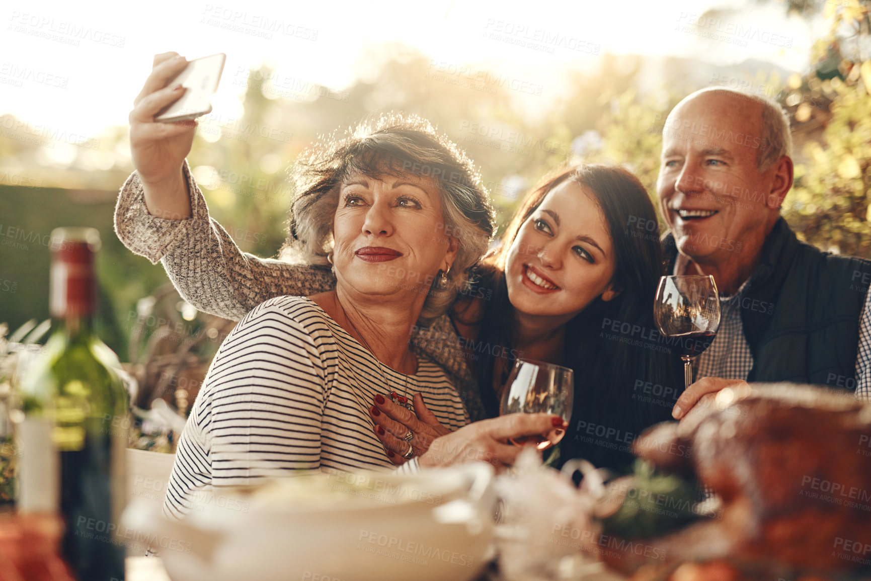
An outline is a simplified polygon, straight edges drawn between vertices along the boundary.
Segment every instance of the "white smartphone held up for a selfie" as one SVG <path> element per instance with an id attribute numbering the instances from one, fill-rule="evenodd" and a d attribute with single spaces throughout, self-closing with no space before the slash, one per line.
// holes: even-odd
<path id="1" fill-rule="evenodd" d="M 226 54 L 219 52 L 208 57 L 194 58 L 184 71 L 169 84 L 181 83 L 185 94 L 154 116 L 155 121 L 169 123 L 195 119 L 212 111 L 212 95 L 218 90 L 220 74 L 224 71 Z M 167 85 L 168 86 L 168 85 Z"/>

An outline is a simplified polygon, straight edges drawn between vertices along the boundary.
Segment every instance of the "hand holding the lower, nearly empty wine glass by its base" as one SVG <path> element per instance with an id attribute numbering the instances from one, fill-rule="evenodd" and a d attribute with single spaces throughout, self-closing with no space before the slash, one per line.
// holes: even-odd
<path id="1" fill-rule="evenodd" d="M 466 462 L 488 462 L 500 470 L 511 466 L 525 446 L 513 446 L 509 438 L 544 435 L 566 429 L 568 422 L 558 415 L 509 414 L 473 422 L 447 436 L 437 438 L 420 457 L 421 467 L 450 466 Z"/>

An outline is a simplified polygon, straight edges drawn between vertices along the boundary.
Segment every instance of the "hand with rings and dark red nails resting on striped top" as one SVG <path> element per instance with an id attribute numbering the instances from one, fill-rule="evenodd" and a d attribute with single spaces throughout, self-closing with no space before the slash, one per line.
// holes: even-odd
<path id="1" fill-rule="evenodd" d="M 401 401 L 405 399 L 401 396 L 397 398 Z M 420 394 L 415 394 L 412 401 L 415 404 L 414 412 L 379 394 L 375 395 L 375 406 L 369 409 L 369 415 L 375 422 L 375 436 L 387 450 L 390 462 L 397 466 L 408 462 L 402 455 L 408 454 L 409 445 L 415 456 L 421 456 L 436 438 L 450 434 L 450 429 L 442 426 L 436 415 L 429 411 Z M 409 433 L 411 436 L 408 436 Z"/>

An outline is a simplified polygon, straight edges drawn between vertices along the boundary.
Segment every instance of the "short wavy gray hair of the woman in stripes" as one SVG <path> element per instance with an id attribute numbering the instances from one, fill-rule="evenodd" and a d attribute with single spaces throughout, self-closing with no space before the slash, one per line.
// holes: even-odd
<path id="1" fill-rule="evenodd" d="M 280 258 L 327 267 L 334 246 L 333 220 L 341 183 L 354 174 L 379 179 L 415 175 L 435 182 L 442 196 L 444 233 L 458 241 L 447 288 L 429 287 L 420 322 L 444 314 L 469 288 L 469 267 L 490 247 L 495 215 L 480 172 L 455 143 L 424 118 L 388 113 L 363 120 L 341 136 L 321 139 L 290 169 L 294 197 L 289 236 Z"/>

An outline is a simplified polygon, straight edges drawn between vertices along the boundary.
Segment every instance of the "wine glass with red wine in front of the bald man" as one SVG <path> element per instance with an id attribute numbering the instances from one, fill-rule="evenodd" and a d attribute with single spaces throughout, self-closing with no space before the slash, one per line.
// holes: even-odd
<path id="1" fill-rule="evenodd" d="M 692 383 L 692 358 L 711 346 L 719 328 L 719 293 L 712 276 L 687 274 L 659 279 L 653 318 L 668 344 L 684 360 L 685 387 Z"/>

